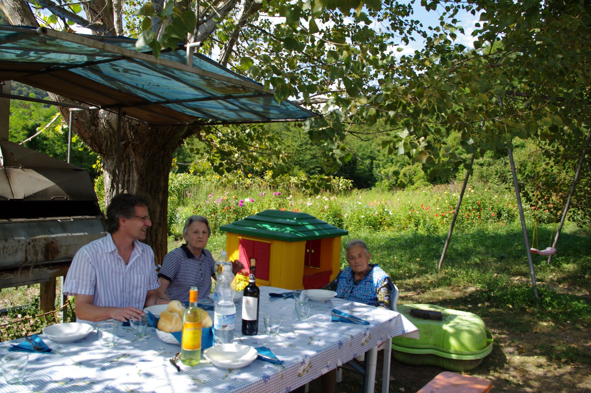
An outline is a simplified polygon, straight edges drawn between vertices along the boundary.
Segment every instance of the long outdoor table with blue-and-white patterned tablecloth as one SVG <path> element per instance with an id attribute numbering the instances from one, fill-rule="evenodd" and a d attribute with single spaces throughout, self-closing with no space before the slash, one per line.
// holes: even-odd
<path id="1" fill-rule="evenodd" d="M 418 338 L 417 327 L 395 311 L 333 298 L 326 303 L 311 301 L 309 317 L 298 320 L 293 298 L 269 297 L 269 293 L 286 290 L 260 289 L 259 334 L 241 334 L 242 306 L 241 300 L 237 300 L 235 342 L 268 347 L 284 360 L 282 365 L 256 359 L 241 369 L 220 369 L 202 355 L 199 365 L 193 367 L 179 362 L 178 372 L 168 359 L 180 351 L 180 346 L 158 339 L 153 327 L 148 327 L 144 337 L 137 338 L 120 323 L 115 346 L 110 348 L 99 345 L 96 332 L 71 343 L 53 342 L 39 334 L 53 353 L 29 353 L 24 382 L 7 385 L 2 379 L 0 391 L 290 392 L 369 351 L 370 364 L 371 359 L 374 364 L 369 367 L 366 391 L 373 392 L 377 346 L 401 334 Z M 199 304 L 212 305 L 213 301 L 207 299 Z M 332 321 L 333 308 L 369 324 Z M 213 311 L 208 313 L 212 315 Z M 266 314 L 282 317 L 277 336 L 265 334 L 262 317 Z M 0 343 L 0 355 L 6 355 L 11 345 L 22 341 Z"/>

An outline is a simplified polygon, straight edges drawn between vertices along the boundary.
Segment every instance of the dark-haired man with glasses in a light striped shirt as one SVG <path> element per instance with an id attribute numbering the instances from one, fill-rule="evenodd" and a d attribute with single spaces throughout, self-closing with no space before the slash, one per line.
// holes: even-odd
<path id="1" fill-rule="evenodd" d="M 126 321 L 144 315 L 142 309 L 168 303 L 158 298 L 154 251 L 145 243 L 152 226 L 148 201 L 132 194 L 111 200 L 107 235 L 76 252 L 64 280 L 63 293 L 76 296 L 76 320 Z"/>

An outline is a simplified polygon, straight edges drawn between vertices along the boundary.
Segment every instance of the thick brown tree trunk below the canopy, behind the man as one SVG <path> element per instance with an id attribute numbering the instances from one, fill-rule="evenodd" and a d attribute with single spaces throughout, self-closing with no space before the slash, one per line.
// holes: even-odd
<path id="1" fill-rule="evenodd" d="M 51 99 L 64 98 L 55 96 Z M 67 109 L 60 109 L 67 118 Z M 117 113 L 107 111 L 74 112 L 73 131 L 102 158 L 105 199 L 115 195 L 117 162 Z M 167 253 L 168 174 L 174 150 L 199 131 L 189 126 L 150 126 L 122 118 L 119 192 L 140 194 L 151 201 L 146 243 L 154 250 L 157 264 Z"/>

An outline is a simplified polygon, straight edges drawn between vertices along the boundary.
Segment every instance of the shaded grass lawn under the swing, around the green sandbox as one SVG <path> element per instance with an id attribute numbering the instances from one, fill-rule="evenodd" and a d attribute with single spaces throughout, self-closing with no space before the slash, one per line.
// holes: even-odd
<path id="1" fill-rule="evenodd" d="M 548 241 L 550 229 L 540 228 L 540 242 Z M 550 266 L 547 258 L 534 255 L 538 305 L 520 226 L 454 233 L 440 273 L 437 263 L 446 233 L 351 235 L 368 242 L 372 261 L 389 272 L 401 292 L 399 304 L 437 304 L 482 317 L 495 343 L 491 355 L 467 374 L 489 379 L 493 391 L 591 391 L 588 233 L 566 226 Z M 376 391 L 381 391 L 381 357 Z M 415 392 L 441 371 L 392 359 L 390 391 Z M 343 379 L 337 391 L 359 391 L 361 379 L 351 372 L 343 372 Z M 310 391 L 322 392 L 322 386 L 314 382 Z"/>

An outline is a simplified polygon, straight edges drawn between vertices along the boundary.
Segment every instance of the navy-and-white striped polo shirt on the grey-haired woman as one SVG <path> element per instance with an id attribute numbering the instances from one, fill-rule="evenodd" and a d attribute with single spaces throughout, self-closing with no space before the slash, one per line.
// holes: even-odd
<path id="1" fill-rule="evenodd" d="M 189 288 L 193 286 L 199 290 L 199 299 L 205 299 L 212 291 L 215 267 L 216 262 L 209 250 L 202 249 L 197 258 L 183 244 L 164 256 L 158 277 L 170 281 L 166 295 L 171 300 L 189 301 Z"/>

